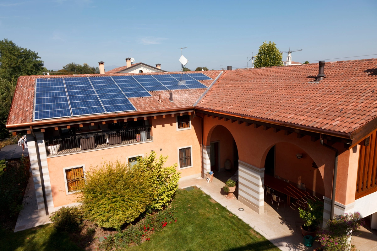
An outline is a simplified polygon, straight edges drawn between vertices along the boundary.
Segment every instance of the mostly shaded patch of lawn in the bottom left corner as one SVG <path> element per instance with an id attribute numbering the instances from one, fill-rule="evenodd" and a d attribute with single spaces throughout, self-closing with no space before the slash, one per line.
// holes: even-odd
<path id="1" fill-rule="evenodd" d="M 50 225 L 13 233 L 0 229 L 2 251 L 81 251 L 65 233 L 57 233 Z"/>

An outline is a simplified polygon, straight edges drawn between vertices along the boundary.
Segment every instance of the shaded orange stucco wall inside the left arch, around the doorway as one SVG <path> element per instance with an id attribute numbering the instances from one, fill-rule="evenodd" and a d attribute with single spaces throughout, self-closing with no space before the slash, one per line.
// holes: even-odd
<path id="1" fill-rule="evenodd" d="M 230 160 L 233 166 L 233 136 L 224 126 L 217 126 L 211 134 L 211 142 L 220 141 L 220 168 L 225 170 L 224 164 L 225 160 Z"/>

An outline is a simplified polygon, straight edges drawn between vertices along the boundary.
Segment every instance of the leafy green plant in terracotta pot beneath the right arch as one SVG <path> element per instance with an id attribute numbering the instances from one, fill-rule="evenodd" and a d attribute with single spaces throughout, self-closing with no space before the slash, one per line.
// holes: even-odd
<path id="1" fill-rule="evenodd" d="M 317 236 L 317 227 L 323 219 L 323 202 L 308 200 L 308 208 L 303 210 L 299 208 L 300 218 L 304 224 L 301 225 L 302 237 L 310 235 Z"/>

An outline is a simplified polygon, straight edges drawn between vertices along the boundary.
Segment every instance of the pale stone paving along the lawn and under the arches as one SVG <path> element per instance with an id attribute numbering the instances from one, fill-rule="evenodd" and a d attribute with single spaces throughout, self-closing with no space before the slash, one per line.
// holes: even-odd
<path id="1" fill-rule="evenodd" d="M 276 204 L 271 206 L 270 197 L 268 197 L 268 202 L 264 202 L 264 213 L 257 214 L 237 199 L 229 200 L 225 198 L 225 195 L 221 193 L 221 188 L 225 185 L 224 182 L 227 176 L 230 176 L 230 174 L 218 173 L 219 179 L 213 178 L 213 182 L 211 183 L 206 183 L 202 178 L 180 181 L 179 188 L 189 186 L 199 187 L 203 192 L 237 215 L 281 250 L 301 251 L 313 250 L 319 247 L 318 242 L 314 242 L 311 248 L 303 245 L 300 229 L 303 221 L 299 218 L 299 211 L 294 206 L 288 207 L 285 205 L 283 207 L 280 204 L 279 210 L 277 210 Z M 238 208 L 244 208 L 245 210 L 239 211 Z M 377 251 L 377 236 L 375 233 L 362 232 L 362 234 L 362 237 L 352 237 L 352 242 L 356 245 L 356 248 L 360 251 Z"/>

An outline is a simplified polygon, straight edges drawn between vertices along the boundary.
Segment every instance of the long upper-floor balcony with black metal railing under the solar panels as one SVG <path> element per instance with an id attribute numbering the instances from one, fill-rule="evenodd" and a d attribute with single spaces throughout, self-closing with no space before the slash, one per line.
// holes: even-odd
<path id="1" fill-rule="evenodd" d="M 75 134 L 70 132 L 70 134 L 72 135 L 46 137 L 47 156 L 153 141 L 151 126 L 139 126 L 111 131 L 97 129 L 78 131 Z"/>

